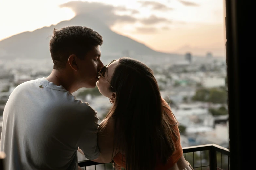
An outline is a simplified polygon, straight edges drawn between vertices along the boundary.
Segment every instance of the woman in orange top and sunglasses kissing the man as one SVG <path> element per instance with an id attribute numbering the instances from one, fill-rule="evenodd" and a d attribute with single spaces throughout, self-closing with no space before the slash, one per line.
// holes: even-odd
<path id="1" fill-rule="evenodd" d="M 183 157 L 177 121 L 161 98 L 153 71 L 120 58 L 99 72 L 97 87 L 113 107 L 99 126 L 101 156 L 126 170 L 191 170 Z"/>

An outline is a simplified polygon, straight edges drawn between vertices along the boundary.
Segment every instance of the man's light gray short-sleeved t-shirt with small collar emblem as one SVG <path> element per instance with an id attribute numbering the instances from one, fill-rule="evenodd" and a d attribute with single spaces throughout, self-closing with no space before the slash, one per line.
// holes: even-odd
<path id="1" fill-rule="evenodd" d="M 19 85 L 3 113 L 6 170 L 77 170 L 77 147 L 99 156 L 98 117 L 88 103 L 45 78 Z"/>

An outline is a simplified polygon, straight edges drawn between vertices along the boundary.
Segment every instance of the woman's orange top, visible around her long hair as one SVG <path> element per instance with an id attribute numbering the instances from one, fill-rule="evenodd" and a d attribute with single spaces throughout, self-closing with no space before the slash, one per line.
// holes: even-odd
<path id="1" fill-rule="evenodd" d="M 163 100 L 163 106 L 167 106 L 169 109 L 169 105 Z M 176 120 L 172 114 L 172 112 L 164 107 L 164 111 L 166 111 L 166 113 L 171 116 L 173 118 L 173 120 Z M 179 137 L 179 139 L 177 140 L 174 136 L 173 141 L 175 142 L 175 147 L 176 150 L 175 152 L 172 154 L 172 156 L 169 157 L 167 163 L 165 165 L 163 165 L 161 163 L 160 160 L 157 160 L 157 165 L 155 167 L 155 170 L 167 170 L 171 167 L 173 167 L 173 165 L 175 163 L 177 163 L 177 161 L 181 158 L 181 156 L 183 155 L 183 150 L 180 144 L 180 134 L 179 134 L 179 128 L 178 125 L 173 126 L 174 130 L 176 131 L 176 135 Z M 120 166 L 122 166 L 123 168 L 126 168 L 126 164 L 125 164 L 125 154 L 123 155 L 122 153 L 118 152 L 115 157 L 114 157 L 114 162 Z M 122 163 L 123 162 L 123 163 Z"/>

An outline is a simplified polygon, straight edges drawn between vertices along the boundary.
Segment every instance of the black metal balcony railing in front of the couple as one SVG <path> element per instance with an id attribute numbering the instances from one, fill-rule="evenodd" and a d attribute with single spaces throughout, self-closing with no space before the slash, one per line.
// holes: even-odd
<path id="1" fill-rule="evenodd" d="M 229 149 L 215 144 L 183 148 L 185 159 L 194 170 L 230 170 Z M 112 170 L 112 163 L 96 163 L 90 160 L 78 162 L 85 170 Z"/>

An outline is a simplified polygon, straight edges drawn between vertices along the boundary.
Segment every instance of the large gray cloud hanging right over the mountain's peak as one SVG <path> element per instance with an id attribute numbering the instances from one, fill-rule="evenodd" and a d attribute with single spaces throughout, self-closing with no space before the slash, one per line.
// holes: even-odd
<path id="1" fill-rule="evenodd" d="M 130 11 L 131 14 L 139 12 L 137 10 L 127 9 L 123 6 L 114 7 L 113 5 L 99 2 L 71 1 L 61 4 L 60 7 L 68 7 L 72 9 L 76 15 L 88 14 L 94 18 L 100 19 L 108 26 L 118 22 L 135 23 L 138 21 L 138 19 L 132 15 L 117 15 L 115 13 L 116 11 Z"/>

